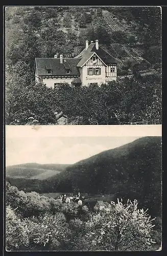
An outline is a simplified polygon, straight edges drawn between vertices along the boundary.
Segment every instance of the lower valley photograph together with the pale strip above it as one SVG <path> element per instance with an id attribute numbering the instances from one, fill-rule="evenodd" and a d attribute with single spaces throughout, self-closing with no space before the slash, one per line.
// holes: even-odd
<path id="1" fill-rule="evenodd" d="M 161 127 L 127 126 L 7 126 L 7 251 L 161 250 Z"/>

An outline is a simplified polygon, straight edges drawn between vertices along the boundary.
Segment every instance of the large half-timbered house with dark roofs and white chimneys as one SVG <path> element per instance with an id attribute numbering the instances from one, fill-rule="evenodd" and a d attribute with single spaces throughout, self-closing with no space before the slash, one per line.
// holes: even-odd
<path id="1" fill-rule="evenodd" d="M 117 60 L 99 46 L 99 40 L 88 42 L 85 49 L 74 58 L 35 58 L 35 80 L 47 87 L 60 83 L 88 86 L 116 80 Z"/>

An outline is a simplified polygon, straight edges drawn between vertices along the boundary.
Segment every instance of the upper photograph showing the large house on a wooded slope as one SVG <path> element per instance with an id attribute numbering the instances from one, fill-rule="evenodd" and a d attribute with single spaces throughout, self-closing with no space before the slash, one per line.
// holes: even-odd
<path id="1" fill-rule="evenodd" d="M 5 123 L 161 124 L 161 12 L 6 6 Z"/>

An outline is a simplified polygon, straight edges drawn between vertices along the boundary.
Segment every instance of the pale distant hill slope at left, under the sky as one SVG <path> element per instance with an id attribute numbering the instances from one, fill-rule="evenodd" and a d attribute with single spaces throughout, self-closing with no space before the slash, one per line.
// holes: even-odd
<path id="1" fill-rule="evenodd" d="M 43 180 L 62 172 L 67 166 L 67 164 L 18 164 L 7 166 L 6 176 L 18 179 Z"/>

